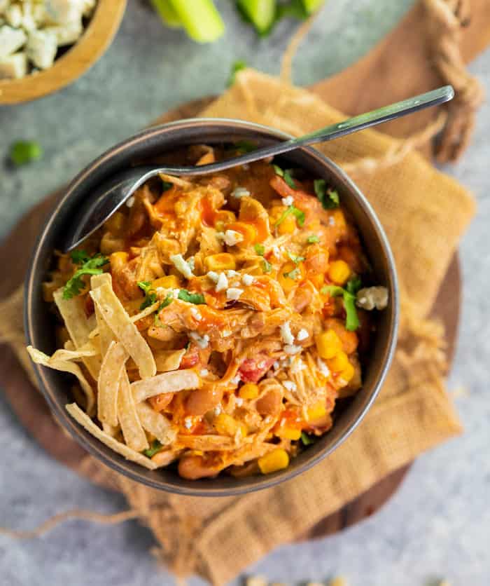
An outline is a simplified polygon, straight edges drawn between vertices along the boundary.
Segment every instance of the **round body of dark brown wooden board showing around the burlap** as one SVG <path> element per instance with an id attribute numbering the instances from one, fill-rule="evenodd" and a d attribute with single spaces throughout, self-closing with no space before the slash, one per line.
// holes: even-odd
<path id="1" fill-rule="evenodd" d="M 184 104 L 169 111 L 155 123 L 191 118 L 206 107 L 211 100 L 212 98 L 204 98 Z M 0 266 L 3 267 L 3 273 L 7 275 L 6 281 L 3 282 L 3 294 L 13 291 L 22 282 L 37 233 L 41 229 L 43 219 L 59 197 L 59 193 L 60 191 L 53 193 L 34 207 L 15 226 L 10 237 L 0 247 Z M 12 250 L 15 250 L 15 256 L 12 254 Z M 458 330 L 461 292 L 461 275 L 457 257 L 454 257 L 444 282 L 446 286 L 442 287 L 439 297 L 435 301 L 434 307 L 437 308 L 437 313 L 434 312 L 433 317 L 442 319 L 446 326 L 447 354 L 449 362 L 451 362 Z M 67 437 L 62 428 L 57 425 L 41 393 L 31 384 L 15 355 L 8 348 L 0 353 L 0 383 L 5 389 L 6 397 L 13 411 L 36 441 L 58 461 L 76 472 L 80 472 L 80 463 L 87 456 L 87 453 L 73 439 Z M 318 538 L 335 533 L 372 515 L 396 491 L 407 470 L 409 470 L 409 466 L 388 475 L 356 500 L 325 517 L 303 539 Z"/>

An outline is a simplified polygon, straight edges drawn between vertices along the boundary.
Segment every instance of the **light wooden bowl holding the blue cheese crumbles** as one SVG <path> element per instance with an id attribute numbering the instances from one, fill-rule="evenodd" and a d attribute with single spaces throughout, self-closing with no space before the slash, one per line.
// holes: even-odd
<path id="1" fill-rule="evenodd" d="M 61 90 L 102 56 L 116 34 L 127 0 L 98 0 L 83 35 L 49 69 L 22 79 L 0 81 L 0 104 L 29 102 Z"/>

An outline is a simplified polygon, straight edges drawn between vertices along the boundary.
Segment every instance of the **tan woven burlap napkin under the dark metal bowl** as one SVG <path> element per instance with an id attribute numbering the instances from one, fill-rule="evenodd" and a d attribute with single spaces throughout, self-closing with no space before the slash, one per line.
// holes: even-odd
<path id="1" fill-rule="evenodd" d="M 237 83 L 202 116 L 244 118 L 300 135 L 343 116 L 307 90 L 242 71 Z M 318 147 L 340 165 L 383 157 L 395 139 L 365 130 Z M 400 343 L 378 400 L 353 435 L 309 472 L 267 491 L 239 498 L 190 498 L 159 493 L 116 475 L 92 457 L 83 472 L 125 493 L 153 531 L 156 554 L 179 574 L 199 573 L 215 584 L 232 579 L 281 543 L 367 490 L 422 451 L 461 431 L 444 390 L 442 329 L 426 316 L 474 212 L 468 191 L 410 152 L 394 165 L 358 177 L 384 225 L 402 292 Z M 22 293 L 1 312 L 20 315 Z M 1 321 L 0 321 L 1 324 Z M 22 357 L 21 325 L 1 325 Z M 26 364 L 26 362 L 24 362 Z M 219 543 L 220 547 L 216 547 Z"/>

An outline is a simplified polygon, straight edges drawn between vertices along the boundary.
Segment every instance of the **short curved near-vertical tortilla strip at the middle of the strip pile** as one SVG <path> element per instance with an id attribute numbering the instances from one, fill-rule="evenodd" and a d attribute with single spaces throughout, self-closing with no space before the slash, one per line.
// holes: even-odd
<path id="1" fill-rule="evenodd" d="M 118 390 L 121 373 L 130 355 L 123 344 L 111 341 L 97 382 L 97 417 L 102 423 L 118 425 Z"/>

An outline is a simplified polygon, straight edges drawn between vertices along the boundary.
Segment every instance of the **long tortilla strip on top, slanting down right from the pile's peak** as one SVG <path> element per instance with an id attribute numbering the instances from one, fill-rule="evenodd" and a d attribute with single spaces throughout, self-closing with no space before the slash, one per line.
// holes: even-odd
<path id="1" fill-rule="evenodd" d="M 157 367 L 150 346 L 131 322 L 125 308 L 113 292 L 109 283 L 104 283 L 90 291 L 94 304 L 99 308 L 102 317 L 113 331 L 118 341 L 123 344 L 139 369 L 141 379 L 155 376 Z"/>

